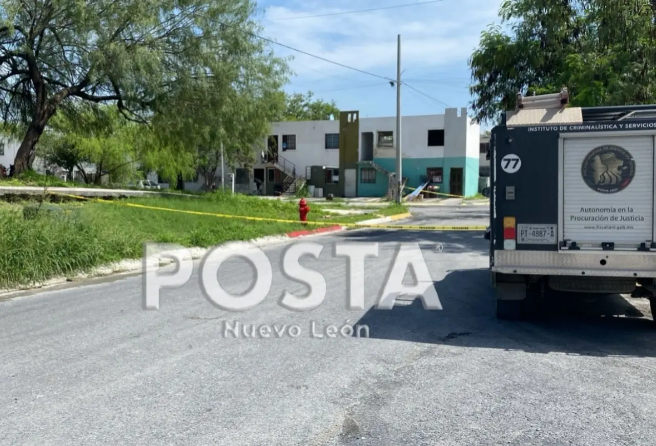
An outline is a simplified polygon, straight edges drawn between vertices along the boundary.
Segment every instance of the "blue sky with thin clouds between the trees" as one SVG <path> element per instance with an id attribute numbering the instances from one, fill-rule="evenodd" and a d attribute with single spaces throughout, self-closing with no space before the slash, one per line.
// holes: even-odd
<path id="1" fill-rule="evenodd" d="M 293 56 L 288 92 L 314 92 L 335 100 L 340 110 L 360 117 L 396 115 L 397 35 L 401 35 L 401 114 L 443 113 L 468 107 L 468 58 L 481 31 L 499 23 L 501 0 L 438 0 L 431 3 L 350 12 L 426 0 L 264 0 L 262 35 L 277 43 L 338 62 L 361 73 L 274 45 L 278 56 Z M 350 12 L 318 16 L 335 12 Z M 379 77 L 377 77 L 379 76 Z M 413 90 L 416 89 L 417 91 Z"/>

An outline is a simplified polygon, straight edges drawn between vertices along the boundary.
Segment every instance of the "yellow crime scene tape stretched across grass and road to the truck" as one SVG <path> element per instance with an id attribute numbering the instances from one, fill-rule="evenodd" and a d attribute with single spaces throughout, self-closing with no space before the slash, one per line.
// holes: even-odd
<path id="1" fill-rule="evenodd" d="M 359 224 L 359 223 L 340 223 L 340 222 L 300 222 L 299 220 L 283 220 L 281 218 L 264 218 L 264 217 L 254 217 L 246 215 L 232 215 L 232 214 L 217 214 L 201 211 L 186 211 L 184 209 L 172 209 L 169 207 L 157 207 L 157 206 L 148 206 L 148 205 L 138 205 L 136 203 L 122 203 L 120 201 L 106 200 L 98 197 L 83 197 L 81 195 L 72 195 L 70 193 L 62 192 L 51 192 L 52 195 L 60 195 L 62 197 L 70 197 L 75 199 L 87 200 L 87 201 L 98 201 L 100 203 L 109 203 L 112 205 L 127 206 L 127 207 L 136 207 L 140 209 L 152 209 L 154 211 L 168 211 L 176 212 L 182 214 L 192 214 L 192 215 L 205 215 L 213 216 L 218 218 L 237 218 L 239 220 L 253 220 L 258 222 L 276 222 L 276 223 L 291 223 L 291 224 L 303 224 L 308 226 L 343 226 L 345 228 L 375 228 L 375 229 L 398 229 L 398 230 L 411 230 L 411 231 L 481 231 L 485 230 L 486 226 L 413 226 L 410 224 Z M 400 214 L 401 218 L 410 217 L 411 214 Z"/>

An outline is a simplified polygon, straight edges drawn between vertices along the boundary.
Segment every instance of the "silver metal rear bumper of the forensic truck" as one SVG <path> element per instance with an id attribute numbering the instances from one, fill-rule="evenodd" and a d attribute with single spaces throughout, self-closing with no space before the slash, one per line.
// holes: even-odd
<path id="1" fill-rule="evenodd" d="M 597 277 L 656 277 L 656 252 L 503 251 L 493 253 L 492 272 Z"/>

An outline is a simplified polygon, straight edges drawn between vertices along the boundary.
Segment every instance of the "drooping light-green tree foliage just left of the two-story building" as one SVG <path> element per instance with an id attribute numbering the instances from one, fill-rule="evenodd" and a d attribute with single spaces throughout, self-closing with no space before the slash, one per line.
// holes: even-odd
<path id="1" fill-rule="evenodd" d="M 259 41 L 254 44 L 260 45 Z M 220 166 L 250 168 L 254 146 L 270 130 L 285 108 L 281 88 L 288 80 L 286 62 L 275 58 L 253 60 L 248 66 L 224 64 L 213 88 L 180 90 L 158 113 L 151 131 L 142 138 L 144 165 L 169 180 L 205 176 L 210 186 Z"/>

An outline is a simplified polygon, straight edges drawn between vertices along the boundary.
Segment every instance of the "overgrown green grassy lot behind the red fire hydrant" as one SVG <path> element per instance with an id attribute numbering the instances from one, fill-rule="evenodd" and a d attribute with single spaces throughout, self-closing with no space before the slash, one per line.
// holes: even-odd
<path id="1" fill-rule="evenodd" d="M 56 276 L 70 277 L 125 258 L 140 258 L 145 241 L 209 247 L 225 241 L 318 227 L 142 209 L 119 203 L 298 220 L 297 203 L 220 192 L 195 200 L 158 197 L 61 205 L 71 211 L 68 214 L 44 212 L 54 206 L 47 204 L 34 219 L 24 218 L 24 204 L 0 203 L 0 289 L 38 283 Z M 394 205 L 371 212 L 390 215 L 407 210 Z M 308 220 L 326 224 L 353 223 L 369 218 L 376 216 L 331 215 L 312 205 L 308 214 Z"/>

